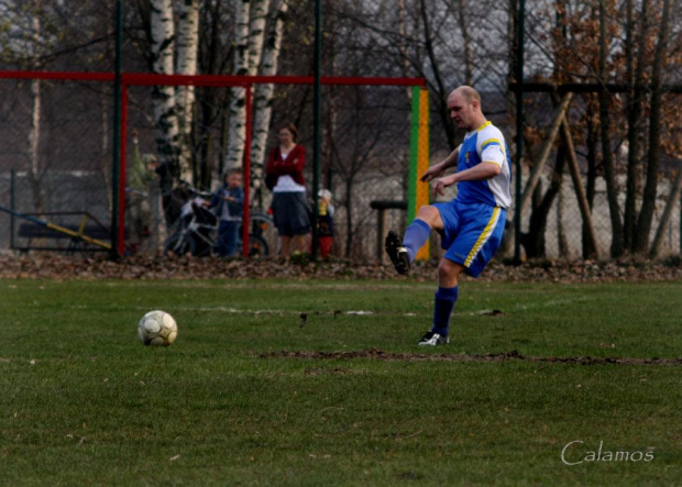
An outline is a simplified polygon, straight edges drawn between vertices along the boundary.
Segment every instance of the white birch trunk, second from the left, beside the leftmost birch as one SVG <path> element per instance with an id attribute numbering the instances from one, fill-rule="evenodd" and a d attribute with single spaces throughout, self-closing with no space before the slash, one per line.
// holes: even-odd
<path id="1" fill-rule="evenodd" d="M 199 48 L 199 0 L 176 0 L 176 9 L 178 13 L 176 73 L 178 75 L 196 75 Z M 176 97 L 180 143 L 180 177 L 196 185 L 191 151 L 195 87 L 178 86 Z"/>

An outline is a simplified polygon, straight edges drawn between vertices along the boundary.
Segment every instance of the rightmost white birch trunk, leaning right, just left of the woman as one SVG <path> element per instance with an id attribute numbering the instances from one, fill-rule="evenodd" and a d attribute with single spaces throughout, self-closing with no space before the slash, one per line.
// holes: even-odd
<path id="1" fill-rule="evenodd" d="M 272 76 L 277 74 L 277 62 L 282 51 L 282 34 L 286 20 L 288 3 L 279 0 L 271 23 L 265 45 L 263 46 L 263 58 L 261 60 L 261 74 Z M 255 88 L 253 97 L 253 142 L 251 143 L 251 164 L 253 167 L 253 182 L 256 195 L 260 193 L 263 179 L 263 165 L 267 151 L 267 134 L 270 132 L 270 121 L 272 118 L 272 103 L 275 86 L 260 84 Z M 257 196 L 256 196 L 257 198 Z"/>

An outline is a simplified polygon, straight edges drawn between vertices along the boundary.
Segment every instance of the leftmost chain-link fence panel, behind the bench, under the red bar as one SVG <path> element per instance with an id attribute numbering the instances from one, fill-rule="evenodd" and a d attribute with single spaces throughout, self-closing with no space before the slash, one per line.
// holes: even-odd
<path id="1" fill-rule="evenodd" d="M 96 82 L 0 79 L 0 206 L 42 221 L 108 230 L 111 95 Z M 87 220 L 84 221 L 84 218 Z M 35 224 L 0 213 L 0 248 L 66 248 Z M 20 236 L 20 230 L 21 232 Z M 97 233 L 102 236 L 101 231 Z M 101 247 L 97 247 L 100 248 Z"/>

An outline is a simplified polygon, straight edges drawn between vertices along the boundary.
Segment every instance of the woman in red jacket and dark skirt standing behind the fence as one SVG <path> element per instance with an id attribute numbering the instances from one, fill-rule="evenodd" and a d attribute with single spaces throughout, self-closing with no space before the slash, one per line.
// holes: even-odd
<path id="1" fill-rule="evenodd" d="M 279 129 L 279 145 L 270 152 L 265 184 L 273 191 L 275 226 L 282 243 L 280 254 L 305 252 L 310 234 L 310 207 L 306 199 L 304 166 L 306 150 L 296 143 L 294 124 Z"/>

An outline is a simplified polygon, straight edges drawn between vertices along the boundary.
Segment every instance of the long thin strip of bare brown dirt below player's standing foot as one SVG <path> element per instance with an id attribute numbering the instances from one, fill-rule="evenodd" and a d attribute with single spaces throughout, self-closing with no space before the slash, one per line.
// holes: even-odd
<path id="1" fill-rule="evenodd" d="M 548 364 L 575 365 L 682 365 L 682 358 L 628 358 L 628 357 L 535 357 L 525 356 L 517 351 L 499 354 L 427 354 L 427 353 L 391 353 L 380 348 L 367 348 L 353 352 L 309 352 L 309 351 L 279 351 L 261 354 L 261 358 L 302 358 L 302 359 L 336 359 L 351 361 L 354 358 L 371 358 L 386 362 L 530 362 Z"/>

